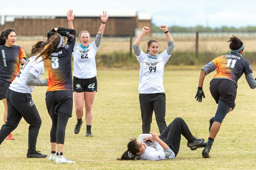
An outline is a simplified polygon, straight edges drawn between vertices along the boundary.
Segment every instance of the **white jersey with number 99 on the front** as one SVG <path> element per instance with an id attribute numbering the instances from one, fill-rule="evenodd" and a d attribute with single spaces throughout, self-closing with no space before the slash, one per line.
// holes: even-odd
<path id="1" fill-rule="evenodd" d="M 156 59 L 148 58 L 148 54 L 140 51 L 137 60 L 140 63 L 139 93 L 151 94 L 164 92 L 164 65 L 171 55 L 166 50 L 157 54 Z"/>

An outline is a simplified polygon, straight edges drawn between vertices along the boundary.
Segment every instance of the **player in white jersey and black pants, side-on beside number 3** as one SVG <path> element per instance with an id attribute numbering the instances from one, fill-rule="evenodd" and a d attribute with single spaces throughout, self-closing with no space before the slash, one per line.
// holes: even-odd
<path id="1" fill-rule="evenodd" d="M 31 49 L 31 55 L 44 48 L 44 41 L 37 42 Z M 48 78 L 40 80 L 44 73 L 42 57 L 30 57 L 21 67 L 6 93 L 8 106 L 7 121 L 0 130 L 0 144 L 4 138 L 17 128 L 21 118 L 29 124 L 27 158 L 45 158 L 47 155 L 36 151 L 36 139 L 41 126 L 41 118 L 31 98 L 34 86 L 46 86 Z"/>

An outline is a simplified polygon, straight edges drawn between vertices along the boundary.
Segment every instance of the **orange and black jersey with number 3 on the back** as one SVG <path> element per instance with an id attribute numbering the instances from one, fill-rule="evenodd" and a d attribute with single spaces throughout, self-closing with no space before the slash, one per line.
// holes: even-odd
<path id="1" fill-rule="evenodd" d="M 57 32 L 60 35 L 65 35 L 66 31 L 76 37 L 76 30 L 73 29 L 58 28 Z M 49 76 L 47 91 L 73 90 L 71 55 L 75 42 L 76 38 L 68 41 L 64 47 L 55 49 L 45 60 L 45 66 Z"/>

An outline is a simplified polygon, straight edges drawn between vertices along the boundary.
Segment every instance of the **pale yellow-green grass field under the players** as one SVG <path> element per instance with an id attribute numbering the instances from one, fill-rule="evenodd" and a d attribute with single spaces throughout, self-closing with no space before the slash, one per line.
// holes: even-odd
<path id="1" fill-rule="evenodd" d="M 253 68 L 252 68 L 253 69 Z M 254 69 L 255 70 L 255 69 Z M 194 99 L 200 69 L 165 70 L 166 122 L 182 117 L 193 135 L 207 141 L 209 119 L 217 105 L 211 97 L 209 82 L 214 73 L 206 76 L 202 103 Z M 47 73 L 44 73 L 44 77 Z M 181 137 L 180 151 L 175 159 L 163 161 L 118 161 L 130 138 L 141 133 L 138 99 L 139 70 L 98 69 L 98 92 L 93 105 L 92 134 L 85 137 L 85 123 L 79 134 L 74 134 L 76 115 L 69 119 L 64 144 L 64 156 L 76 164 L 56 164 L 45 159 L 27 159 L 28 124 L 21 120 L 12 134 L 15 140 L 4 140 L 0 146 L 0 169 L 255 169 L 255 94 L 244 76 L 238 82 L 236 108 L 223 121 L 217 135 L 211 158 L 203 159 L 202 148 L 191 151 Z M 46 87 L 35 87 L 32 93 L 42 126 L 37 138 L 37 150 L 50 154 L 51 119 L 45 106 Z M 0 117 L 3 116 L 0 101 Z M 83 120 L 85 118 L 83 117 Z M 158 131 L 155 117 L 151 131 Z"/>

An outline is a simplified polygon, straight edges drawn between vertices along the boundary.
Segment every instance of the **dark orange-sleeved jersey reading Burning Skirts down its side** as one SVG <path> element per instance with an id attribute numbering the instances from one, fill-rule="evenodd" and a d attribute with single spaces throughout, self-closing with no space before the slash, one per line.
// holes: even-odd
<path id="1" fill-rule="evenodd" d="M 12 82 L 20 70 L 20 59 L 26 58 L 20 46 L 0 46 L 0 79 Z"/>

